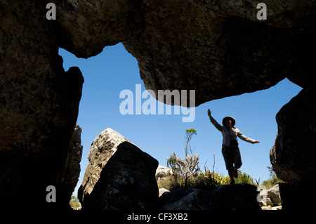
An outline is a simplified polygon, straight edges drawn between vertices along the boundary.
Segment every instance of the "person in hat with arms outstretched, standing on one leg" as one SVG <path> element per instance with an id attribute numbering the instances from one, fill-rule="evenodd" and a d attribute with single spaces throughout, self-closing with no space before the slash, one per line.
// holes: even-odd
<path id="1" fill-rule="evenodd" d="M 223 126 L 217 123 L 213 117 L 211 117 L 211 110 L 207 110 L 211 123 L 220 131 L 223 135 L 222 154 L 225 160 L 226 169 L 230 176 L 230 184 L 234 184 L 234 177 L 238 177 L 238 169 L 242 166 L 242 158 L 240 157 L 237 136 L 248 143 L 260 143 L 258 140 L 253 140 L 244 136 L 235 126 L 235 119 L 233 117 L 224 117 Z M 234 166 L 235 165 L 235 166 Z"/>

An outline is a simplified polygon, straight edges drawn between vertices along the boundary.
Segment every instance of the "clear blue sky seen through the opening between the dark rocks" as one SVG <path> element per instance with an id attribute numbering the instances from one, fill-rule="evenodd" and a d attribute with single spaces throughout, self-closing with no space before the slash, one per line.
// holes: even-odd
<path id="1" fill-rule="evenodd" d="M 254 179 L 266 180 L 269 178 L 267 166 L 271 165 L 269 152 L 277 134 L 275 115 L 301 91 L 301 87 L 284 79 L 268 90 L 244 93 L 199 105 L 195 108 L 195 121 L 190 123 L 182 122 L 182 117 L 186 115 L 181 113 L 122 115 L 119 112 L 119 105 L 124 100 L 119 98 L 121 91 L 128 89 L 135 93 L 136 84 L 141 84 L 142 93 L 145 91 L 137 60 L 122 44 L 107 46 L 102 53 L 88 59 L 76 58 L 62 48 L 59 53 L 64 60 L 65 70 L 77 66 L 85 80 L 77 120 L 82 129 L 81 143 L 84 150 L 74 195 L 77 195 L 77 189 L 84 177 L 91 143 L 107 128 L 121 133 L 157 159 L 162 166 L 166 166 L 166 158 L 173 152 L 184 157 L 185 129 L 196 129 L 197 135 L 192 138 L 191 145 L 195 149 L 193 153 L 199 154 L 202 171 L 205 162 L 209 169 L 213 169 L 215 154 L 215 171 L 227 175 L 221 154 L 222 135 L 209 122 L 207 109 L 211 110 L 218 123 L 225 116 L 235 117 L 235 126 L 245 136 L 261 141 L 260 144 L 252 145 L 239 140 L 243 164 L 240 170 Z"/>

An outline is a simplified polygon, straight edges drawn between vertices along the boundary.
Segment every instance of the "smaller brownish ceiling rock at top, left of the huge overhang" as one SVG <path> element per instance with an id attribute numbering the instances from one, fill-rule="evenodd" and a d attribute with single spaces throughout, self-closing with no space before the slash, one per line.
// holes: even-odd
<path id="1" fill-rule="evenodd" d="M 88 58 L 142 30 L 139 0 L 52 0 L 58 18 L 59 44 Z"/>

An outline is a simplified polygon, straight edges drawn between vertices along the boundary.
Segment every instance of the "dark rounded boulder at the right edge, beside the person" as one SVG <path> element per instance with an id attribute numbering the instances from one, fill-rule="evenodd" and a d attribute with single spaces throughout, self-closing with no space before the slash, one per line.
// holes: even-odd
<path id="1" fill-rule="evenodd" d="M 278 134 L 270 150 L 273 171 L 288 183 L 315 183 L 315 88 L 304 88 L 277 113 Z"/>

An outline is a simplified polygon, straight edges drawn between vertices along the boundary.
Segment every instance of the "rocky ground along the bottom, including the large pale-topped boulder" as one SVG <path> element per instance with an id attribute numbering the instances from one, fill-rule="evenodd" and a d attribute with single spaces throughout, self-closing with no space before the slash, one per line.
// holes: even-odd
<path id="1" fill-rule="evenodd" d="M 88 167 L 78 191 L 82 210 L 260 210 L 281 205 L 277 186 L 258 191 L 249 184 L 221 185 L 213 190 L 189 188 L 169 192 L 157 181 L 172 176 L 136 145 L 112 129 L 93 141 Z M 260 206 L 261 205 L 261 206 Z"/>

